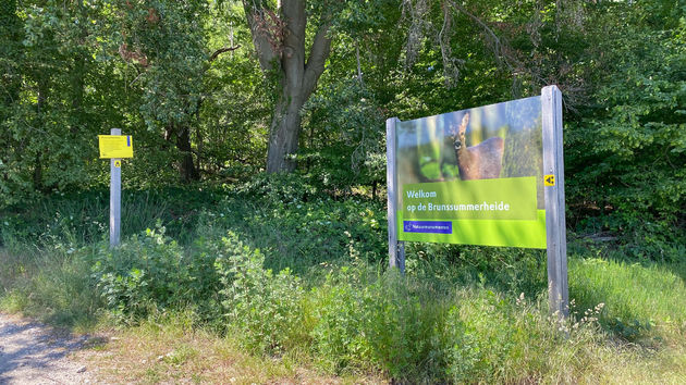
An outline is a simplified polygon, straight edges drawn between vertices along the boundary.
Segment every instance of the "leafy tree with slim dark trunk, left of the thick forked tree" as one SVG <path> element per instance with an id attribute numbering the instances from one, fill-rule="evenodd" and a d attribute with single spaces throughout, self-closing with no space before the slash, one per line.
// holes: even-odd
<path id="1" fill-rule="evenodd" d="M 236 47 L 213 52 L 208 49 L 210 36 L 206 24 L 211 8 L 207 1 L 125 2 L 120 13 L 124 17 L 120 30 L 114 32 L 123 38 L 119 54 L 135 67 L 136 77 L 131 84 L 140 88 L 140 112 L 148 129 L 162 132 L 164 139 L 175 147 L 181 181 L 198 181 L 199 157 L 192 138 L 201 141 L 204 78 L 220 54 Z"/>

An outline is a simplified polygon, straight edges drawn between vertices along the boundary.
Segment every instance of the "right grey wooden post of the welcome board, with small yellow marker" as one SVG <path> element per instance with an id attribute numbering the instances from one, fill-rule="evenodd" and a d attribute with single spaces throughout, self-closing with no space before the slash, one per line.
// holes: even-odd
<path id="1" fill-rule="evenodd" d="M 546 236 L 550 311 L 560 319 L 569 314 L 567 238 L 564 218 L 564 160 L 562 153 L 562 94 L 556 86 L 541 90 L 543 174 L 546 175 Z M 550 177 L 552 175 L 552 178 Z"/>

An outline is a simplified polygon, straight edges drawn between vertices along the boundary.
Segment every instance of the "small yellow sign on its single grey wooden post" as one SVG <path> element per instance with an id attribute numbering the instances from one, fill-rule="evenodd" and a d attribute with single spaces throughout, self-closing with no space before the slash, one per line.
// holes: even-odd
<path id="1" fill-rule="evenodd" d="M 122 136 L 120 128 L 110 135 L 98 135 L 100 158 L 110 159 L 110 248 L 119 246 L 122 220 L 122 158 L 133 158 L 131 136 Z"/>

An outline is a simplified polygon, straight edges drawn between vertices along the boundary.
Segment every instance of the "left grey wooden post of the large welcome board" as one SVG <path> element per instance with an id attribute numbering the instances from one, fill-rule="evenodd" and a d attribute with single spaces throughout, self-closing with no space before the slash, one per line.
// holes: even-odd
<path id="1" fill-rule="evenodd" d="M 385 121 L 385 184 L 388 189 L 388 218 L 389 218 L 389 266 L 399 268 L 405 273 L 405 243 L 397 240 L 397 170 L 395 162 L 395 124 L 397 117 Z"/>

